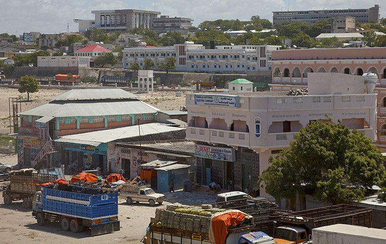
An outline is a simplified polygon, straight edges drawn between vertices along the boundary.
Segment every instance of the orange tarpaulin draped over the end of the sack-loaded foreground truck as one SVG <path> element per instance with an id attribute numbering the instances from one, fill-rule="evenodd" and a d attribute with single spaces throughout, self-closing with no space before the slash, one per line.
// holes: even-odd
<path id="1" fill-rule="evenodd" d="M 228 227 L 231 225 L 238 225 L 245 219 L 242 212 L 227 212 L 223 215 L 217 216 L 212 220 L 213 235 L 216 244 L 225 243 L 228 234 Z"/>

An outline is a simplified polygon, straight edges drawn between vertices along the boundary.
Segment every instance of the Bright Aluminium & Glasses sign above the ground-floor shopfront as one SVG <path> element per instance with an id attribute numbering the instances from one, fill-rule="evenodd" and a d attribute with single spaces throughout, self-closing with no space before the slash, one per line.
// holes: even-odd
<path id="1" fill-rule="evenodd" d="M 221 161 L 236 161 L 234 148 L 214 147 L 196 144 L 194 146 L 194 156 L 205 159 L 215 159 Z"/>

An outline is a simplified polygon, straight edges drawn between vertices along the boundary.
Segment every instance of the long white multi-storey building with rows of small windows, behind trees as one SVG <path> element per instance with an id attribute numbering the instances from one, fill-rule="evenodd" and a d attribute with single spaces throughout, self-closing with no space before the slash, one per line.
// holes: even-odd
<path id="1" fill-rule="evenodd" d="M 205 49 L 200 44 L 185 42 L 172 47 L 136 47 L 123 50 L 123 65 L 128 69 L 137 62 L 143 67 L 144 60 L 151 58 L 155 64 L 167 57 L 176 59 L 176 71 L 246 73 L 247 71 L 270 71 L 271 51 L 274 45 L 216 46 Z"/>

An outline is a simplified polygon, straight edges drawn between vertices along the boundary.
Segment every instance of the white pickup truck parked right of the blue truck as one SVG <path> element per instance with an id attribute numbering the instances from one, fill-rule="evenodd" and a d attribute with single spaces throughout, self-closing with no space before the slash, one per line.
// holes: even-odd
<path id="1" fill-rule="evenodd" d="M 162 204 L 166 200 L 166 196 L 163 194 L 155 193 L 153 189 L 146 188 L 137 188 L 135 190 L 123 190 L 120 193 L 120 198 L 126 199 L 128 204 L 133 202 L 149 202 L 151 206 L 154 206 L 156 202 Z"/>

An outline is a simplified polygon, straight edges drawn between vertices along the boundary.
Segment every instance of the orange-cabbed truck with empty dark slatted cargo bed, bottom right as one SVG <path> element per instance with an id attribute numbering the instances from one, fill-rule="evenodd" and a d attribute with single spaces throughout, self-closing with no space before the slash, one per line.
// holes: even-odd
<path id="1" fill-rule="evenodd" d="M 289 212 L 275 222 L 275 241 L 296 244 L 312 239 L 314 228 L 333 224 L 372 227 L 372 209 L 348 204 Z M 338 243 L 338 242 L 336 242 Z"/>

